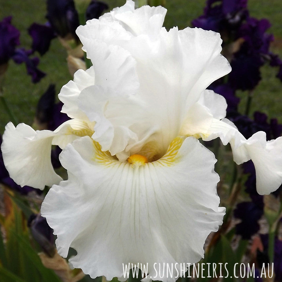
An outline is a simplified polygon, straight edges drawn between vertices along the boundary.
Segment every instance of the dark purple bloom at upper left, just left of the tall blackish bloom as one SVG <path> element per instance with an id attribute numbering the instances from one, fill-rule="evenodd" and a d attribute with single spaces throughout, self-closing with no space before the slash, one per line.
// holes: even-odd
<path id="1" fill-rule="evenodd" d="M 32 51 L 38 51 L 41 56 L 49 50 L 51 40 L 56 37 L 53 28 L 43 24 L 33 23 L 28 33 L 32 37 Z"/>

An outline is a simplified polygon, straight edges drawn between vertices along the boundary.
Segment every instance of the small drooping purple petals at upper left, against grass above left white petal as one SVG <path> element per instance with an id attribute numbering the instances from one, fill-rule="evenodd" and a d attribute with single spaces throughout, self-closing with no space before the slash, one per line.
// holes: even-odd
<path id="1" fill-rule="evenodd" d="M 25 50 L 24 48 L 19 48 L 15 51 L 13 60 L 15 63 L 25 63 L 26 70 L 29 75 L 32 77 L 32 82 L 37 83 L 43 78 L 46 74 L 37 68 L 39 59 L 37 57 L 29 58 L 32 54 L 32 50 Z"/>

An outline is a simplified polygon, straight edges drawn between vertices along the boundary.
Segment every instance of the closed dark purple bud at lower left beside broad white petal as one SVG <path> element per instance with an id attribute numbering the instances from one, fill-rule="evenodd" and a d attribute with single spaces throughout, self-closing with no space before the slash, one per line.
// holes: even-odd
<path id="1" fill-rule="evenodd" d="M 53 257 L 55 254 L 53 229 L 49 227 L 46 218 L 40 214 L 32 214 L 28 219 L 28 226 L 43 251 Z"/>

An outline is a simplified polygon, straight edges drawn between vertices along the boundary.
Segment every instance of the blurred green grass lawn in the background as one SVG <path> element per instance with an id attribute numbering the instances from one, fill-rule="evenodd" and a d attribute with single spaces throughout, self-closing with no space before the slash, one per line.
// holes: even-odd
<path id="1" fill-rule="evenodd" d="M 106 2 L 110 9 L 125 3 L 123 0 L 108 0 Z M 204 5 L 204 0 L 167 0 L 168 11 L 164 25 L 167 28 L 178 26 L 179 29 L 191 26 L 192 19 L 202 14 Z M 46 21 L 45 9 L 45 1 L 43 0 L 1 1 L 0 19 L 12 15 L 12 23 L 21 30 L 21 46 L 30 48 L 31 37 L 28 35 L 27 28 L 33 22 L 44 23 Z M 269 32 L 273 33 L 277 39 L 275 48 L 273 47 L 272 50 L 282 57 L 281 9 L 281 0 L 249 0 L 251 16 L 259 19 L 267 18 L 271 22 L 272 27 Z M 61 87 L 71 79 L 67 69 L 66 51 L 57 39 L 52 41 L 50 50 L 41 58 L 38 67 L 47 75 L 37 84 L 31 82 L 24 65 L 16 65 L 12 61 L 9 63 L 4 80 L 4 96 L 7 103 L 19 122 L 25 122 L 29 125 L 33 122 L 37 101 L 48 85 L 54 83 L 56 91 L 59 93 Z M 282 83 L 275 77 L 276 73 L 277 69 L 269 66 L 263 67 L 263 80 L 255 90 L 251 113 L 260 110 L 270 117 L 278 117 L 282 122 Z M 244 111 L 246 93 L 240 93 L 239 96 L 242 99 L 239 108 Z M 4 132 L 4 126 L 9 120 L 9 116 L 0 105 L 0 133 Z"/>

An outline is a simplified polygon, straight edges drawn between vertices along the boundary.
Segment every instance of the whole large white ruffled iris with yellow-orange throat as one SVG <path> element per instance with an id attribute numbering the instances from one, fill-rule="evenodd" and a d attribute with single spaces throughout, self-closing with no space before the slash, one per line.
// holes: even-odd
<path id="1" fill-rule="evenodd" d="M 237 164 L 252 159 L 257 190 L 282 182 L 282 138 L 246 140 L 227 119 L 226 101 L 205 90 L 231 68 L 218 33 L 162 27 L 166 9 L 128 0 L 80 26 L 93 66 L 61 89 L 72 119 L 54 132 L 8 123 L 2 152 L 20 185 L 53 185 L 41 208 L 57 249 L 91 277 L 122 277 L 122 263 L 195 263 L 222 224 L 214 155 L 197 138 L 231 144 Z M 61 181 L 51 145 L 63 152 Z M 161 270 L 162 273 L 162 270 Z M 176 278 L 155 277 L 175 281 Z"/>

